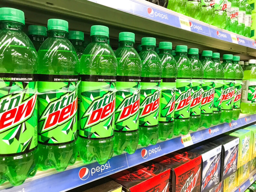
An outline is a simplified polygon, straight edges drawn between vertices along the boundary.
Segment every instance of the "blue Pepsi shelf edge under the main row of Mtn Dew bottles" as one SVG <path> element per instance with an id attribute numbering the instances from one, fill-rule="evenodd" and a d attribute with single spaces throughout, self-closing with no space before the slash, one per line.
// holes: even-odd
<path id="1" fill-rule="evenodd" d="M 256 114 L 241 114 L 238 120 L 232 121 L 231 123 L 222 123 L 216 126 L 211 126 L 207 129 L 201 128 L 198 131 L 191 132 L 187 135 L 190 135 L 192 138 L 192 142 L 188 145 L 198 143 L 253 122 L 256 122 Z M 1 191 L 4 192 L 34 192 L 35 189 L 47 192 L 67 191 L 68 189 L 81 186 L 99 178 L 184 148 L 185 146 L 181 141 L 182 137 L 177 136 L 175 138 L 159 142 L 156 145 L 139 147 L 134 154 L 130 155 L 128 153 L 122 153 L 121 155 L 114 156 L 109 159 L 105 165 L 99 165 L 97 162 L 86 165 L 83 164 L 81 160 L 78 160 L 74 165 L 69 166 L 66 171 L 56 172 L 54 169 L 38 171 L 34 177 L 28 178 L 24 184 L 11 187 L 10 184 L 6 182 L 0 186 L 0 190 L 2 189 Z"/>

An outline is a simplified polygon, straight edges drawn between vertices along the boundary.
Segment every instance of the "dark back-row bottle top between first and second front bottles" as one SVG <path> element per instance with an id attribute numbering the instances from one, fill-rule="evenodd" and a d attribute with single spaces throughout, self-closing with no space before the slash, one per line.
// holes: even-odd
<path id="1" fill-rule="evenodd" d="M 38 51 L 39 47 L 47 38 L 47 29 L 40 25 L 29 25 L 28 36 L 35 46 L 35 50 Z"/>

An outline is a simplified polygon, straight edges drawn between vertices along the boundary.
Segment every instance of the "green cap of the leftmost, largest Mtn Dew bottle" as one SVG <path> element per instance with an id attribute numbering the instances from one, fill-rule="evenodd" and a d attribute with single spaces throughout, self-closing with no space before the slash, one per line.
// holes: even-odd
<path id="1" fill-rule="evenodd" d="M 19 9 L 1 7 L 0 20 L 16 21 L 25 25 L 24 12 Z"/>

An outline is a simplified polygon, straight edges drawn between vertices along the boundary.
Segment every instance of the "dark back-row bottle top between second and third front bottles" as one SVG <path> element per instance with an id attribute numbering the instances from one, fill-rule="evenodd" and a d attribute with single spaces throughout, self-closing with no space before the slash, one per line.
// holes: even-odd
<path id="1" fill-rule="evenodd" d="M 83 54 L 84 36 L 82 31 L 69 31 L 68 40 L 74 46 L 78 59 L 80 60 Z"/>

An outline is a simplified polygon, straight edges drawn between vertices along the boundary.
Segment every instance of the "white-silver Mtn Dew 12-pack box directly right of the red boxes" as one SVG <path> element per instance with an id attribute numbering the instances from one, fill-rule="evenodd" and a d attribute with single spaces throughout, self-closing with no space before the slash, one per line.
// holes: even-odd
<path id="1" fill-rule="evenodd" d="M 190 150 L 202 156 L 201 192 L 207 192 L 220 183 L 221 147 L 210 142 Z"/>

